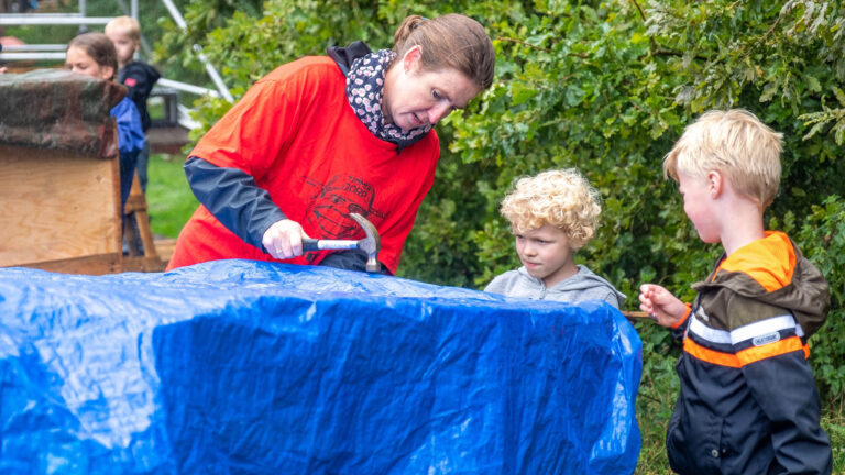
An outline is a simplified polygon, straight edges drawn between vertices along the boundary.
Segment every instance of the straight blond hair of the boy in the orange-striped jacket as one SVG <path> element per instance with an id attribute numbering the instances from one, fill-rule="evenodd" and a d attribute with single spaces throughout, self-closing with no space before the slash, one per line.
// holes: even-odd
<path id="1" fill-rule="evenodd" d="M 783 134 L 743 109 L 712 110 L 688 125 L 663 158 L 663 176 L 678 172 L 703 177 L 724 174 L 740 194 L 764 207 L 771 205 L 780 185 Z"/>

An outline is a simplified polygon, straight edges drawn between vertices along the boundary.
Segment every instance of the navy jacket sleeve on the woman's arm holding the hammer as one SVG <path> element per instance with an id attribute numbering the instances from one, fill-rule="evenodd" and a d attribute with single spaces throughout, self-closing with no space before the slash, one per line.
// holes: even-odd
<path id="1" fill-rule="evenodd" d="M 218 167 L 199 157 L 185 162 L 185 175 L 197 200 L 229 231 L 264 252 L 264 232 L 286 219 L 270 194 L 238 168 Z"/>

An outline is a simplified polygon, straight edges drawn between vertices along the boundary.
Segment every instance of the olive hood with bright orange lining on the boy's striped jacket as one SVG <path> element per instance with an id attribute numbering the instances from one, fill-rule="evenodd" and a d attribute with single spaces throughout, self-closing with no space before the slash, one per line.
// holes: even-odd
<path id="1" fill-rule="evenodd" d="M 806 338 L 823 324 L 831 306 L 827 283 L 821 272 L 781 232 L 767 231 L 766 236 L 745 245 L 721 263 L 707 283 L 693 285 L 695 290 L 724 286 L 744 297 L 788 309 Z"/>

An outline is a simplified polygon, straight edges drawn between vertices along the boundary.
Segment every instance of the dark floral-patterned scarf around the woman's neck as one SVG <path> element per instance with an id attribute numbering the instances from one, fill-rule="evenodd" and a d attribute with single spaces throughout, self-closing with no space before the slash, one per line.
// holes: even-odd
<path id="1" fill-rule="evenodd" d="M 347 99 L 358 119 L 376 137 L 393 142 L 399 151 L 422 140 L 431 125 L 403 131 L 394 124 L 384 123 L 382 96 L 384 93 L 384 73 L 396 56 L 391 49 L 380 49 L 352 62 L 347 75 Z"/>

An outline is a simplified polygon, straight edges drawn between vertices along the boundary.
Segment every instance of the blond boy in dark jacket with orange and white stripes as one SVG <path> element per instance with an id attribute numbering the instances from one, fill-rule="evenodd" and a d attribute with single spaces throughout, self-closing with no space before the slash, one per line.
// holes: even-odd
<path id="1" fill-rule="evenodd" d="M 640 309 L 673 329 L 681 391 L 666 448 L 678 473 L 830 474 L 806 339 L 830 307 L 821 273 L 762 212 L 780 181 L 781 134 L 743 110 L 710 111 L 663 161 L 683 210 L 724 254 L 695 303 L 640 287 Z"/>

